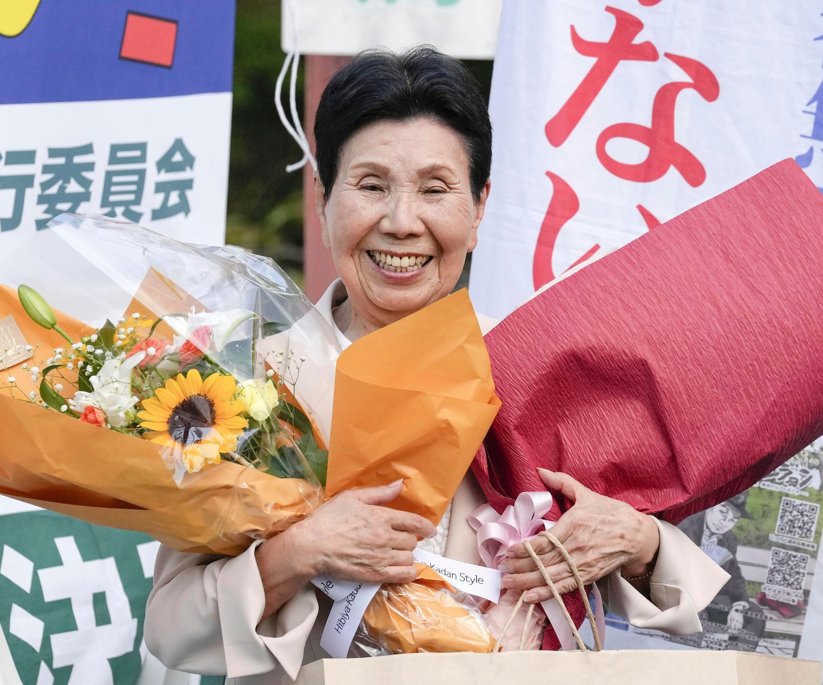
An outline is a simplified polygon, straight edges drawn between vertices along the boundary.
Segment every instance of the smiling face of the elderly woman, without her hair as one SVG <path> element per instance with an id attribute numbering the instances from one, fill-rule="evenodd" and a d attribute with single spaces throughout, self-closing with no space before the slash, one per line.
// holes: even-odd
<path id="1" fill-rule="evenodd" d="M 328 201 L 315 180 L 323 242 L 352 313 L 382 326 L 449 294 L 488 192 L 486 183 L 475 204 L 463 141 L 443 123 L 383 121 L 352 136 Z"/>

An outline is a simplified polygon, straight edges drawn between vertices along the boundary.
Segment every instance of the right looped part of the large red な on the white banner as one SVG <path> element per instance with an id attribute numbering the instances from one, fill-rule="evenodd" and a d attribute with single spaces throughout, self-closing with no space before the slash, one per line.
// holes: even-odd
<path id="1" fill-rule="evenodd" d="M 706 170 L 700 160 L 674 138 L 677 95 L 682 90 L 691 89 L 696 90 L 707 102 L 714 102 L 720 94 L 720 86 L 709 67 L 697 60 L 670 53 L 665 53 L 665 57 L 681 67 L 691 81 L 667 83 L 658 90 L 652 105 L 650 127 L 637 123 L 616 123 L 607 127 L 597 138 L 597 159 L 611 174 L 638 183 L 657 181 L 673 166 L 686 183 L 691 187 L 698 187 L 706 179 Z M 606 151 L 607 143 L 612 138 L 628 138 L 642 143 L 649 148 L 649 154 L 639 164 L 618 162 Z"/>

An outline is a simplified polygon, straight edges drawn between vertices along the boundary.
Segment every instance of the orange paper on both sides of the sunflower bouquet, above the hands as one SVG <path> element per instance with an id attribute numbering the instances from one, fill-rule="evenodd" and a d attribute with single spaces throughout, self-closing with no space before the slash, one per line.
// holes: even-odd
<path id="1" fill-rule="evenodd" d="M 157 276 L 146 277 L 133 308 L 149 315 L 151 303 L 155 312 L 178 311 L 188 294 L 160 287 Z M 145 294 L 151 283 L 158 288 Z M 0 315 L 13 313 L 30 345 L 40 343 L 45 353 L 66 344 L 31 322 L 12 290 L 0 295 Z M 93 332 L 59 312 L 58 320 L 78 340 Z M 499 405 L 467 294 L 350 349 L 335 391 L 334 492 L 405 477 L 408 487 L 394 506 L 439 521 Z M 90 523 L 141 530 L 181 551 L 239 554 L 322 503 L 322 491 L 304 480 L 277 479 L 230 461 L 188 474 L 178 485 L 150 442 L 2 393 L 0 435 L 0 494 Z"/>

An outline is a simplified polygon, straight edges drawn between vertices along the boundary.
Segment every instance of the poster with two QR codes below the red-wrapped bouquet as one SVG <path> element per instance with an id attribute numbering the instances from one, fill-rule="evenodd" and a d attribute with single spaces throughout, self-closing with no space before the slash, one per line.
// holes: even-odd
<path id="1" fill-rule="evenodd" d="M 609 617 L 611 649 L 742 650 L 823 659 L 823 440 L 744 493 L 679 526 L 731 576 L 700 613 L 703 632 L 668 636 Z"/>

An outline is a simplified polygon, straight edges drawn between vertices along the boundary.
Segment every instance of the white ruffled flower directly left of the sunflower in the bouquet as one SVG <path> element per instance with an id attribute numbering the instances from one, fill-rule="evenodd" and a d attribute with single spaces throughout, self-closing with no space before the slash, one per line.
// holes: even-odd
<path id="1" fill-rule="evenodd" d="M 100 371 L 89 379 L 94 391 L 77 392 L 69 400 L 72 409 L 82 413 L 87 406 L 95 406 L 103 411 L 114 428 L 133 420 L 132 409 L 137 397 L 132 395 L 132 370 L 145 356 L 145 352 L 138 352 L 128 359 L 117 357 L 104 363 Z M 91 373 L 91 367 L 86 368 L 86 373 Z"/>

